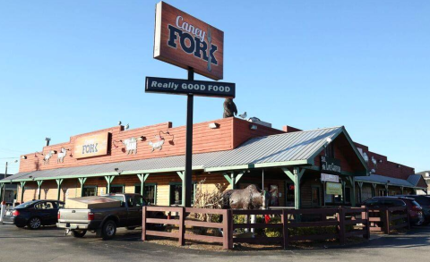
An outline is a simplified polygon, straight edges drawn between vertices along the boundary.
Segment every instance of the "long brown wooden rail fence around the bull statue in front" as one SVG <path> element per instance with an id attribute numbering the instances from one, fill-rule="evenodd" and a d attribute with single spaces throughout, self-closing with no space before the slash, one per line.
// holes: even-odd
<path id="1" fill-rule="evenodd" d="M 150 218 L 150 212 L 172 212 L 177 216 L 173 219 Z M 201 222 L 185 219 L 187 214 L 219 215 L 220 223 Z M 234 223 L 234 216 L 280 216 L 280 223 Z M 278 209 L 278 210 L 229 210 L 206 209 L 192 207 L 144 207 L 142 221 L 142 241 L 147 241 L 147 236 L 160 236 L 176 238 L 179 245 L 185 245 L 185 240 L 207 241 L 222 243 L 224 249 L 232 249 L 234 243 L 280 243 L 285 249 L 292 241 L 316 241 L 337 239 L 345 244 L 348 237 L 370 237 L 369 219 L 366 207 L 351 208 L 316 208 L 316 209 Z M 177 232 L 159 232 L 148 230 L 149 224 L 172 224 L 178 226 Z M 354 228 L 354 225 L 360 227 Z M 222 236 L 208 236 L 185 233 L 185 226 L 222 229 Z M 318 234 L 295 234 L 300 229 L 306 228 L 330 228 L 332 232 Z M 276 229 L 280 232 L 275 237 L 233 237 L 236 229 Z M 352 230 L 348 230 L 352 229 Z"/>

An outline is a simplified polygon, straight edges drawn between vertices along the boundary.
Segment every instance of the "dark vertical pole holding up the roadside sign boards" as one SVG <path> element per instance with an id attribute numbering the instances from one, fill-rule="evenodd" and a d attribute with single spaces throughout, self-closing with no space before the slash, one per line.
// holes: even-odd
<path id="1" fill-rule="evenodd" d="M 191 67 L 188 69 L 188 80 L 194 80 L 194 70 Z M 188 94 L 186 98 L 185 189 L 183 189 L 185 207 L 191 207 L 191 189 L 193 187 L 193 104 L 194 95 Z"/>

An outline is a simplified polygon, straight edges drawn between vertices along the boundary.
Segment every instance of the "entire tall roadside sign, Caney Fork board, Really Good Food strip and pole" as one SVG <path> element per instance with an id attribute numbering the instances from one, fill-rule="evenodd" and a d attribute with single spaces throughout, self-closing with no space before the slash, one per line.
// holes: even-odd
<path id="1" fill-rule="evenodd" d="M 188 71 L 187 80 L 146 77 L 145 92 L 187 96 L 185 174 L 182 200 L 191 207 L 193 189 L 193 99 L 234 98 L 236 85 L 223 83 L 224 32 L 176 7 L 159 2 L 155 13 L 154 58 Z M 194 72 L 217 81 L 194 80 Z"/>

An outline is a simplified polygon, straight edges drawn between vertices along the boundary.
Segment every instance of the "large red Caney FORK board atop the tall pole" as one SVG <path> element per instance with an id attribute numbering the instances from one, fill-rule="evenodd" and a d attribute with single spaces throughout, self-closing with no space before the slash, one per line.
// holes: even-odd
<path id="1" fill-rule="evenodd" d="M 223 31 L 164 2 L 156 5 L 154 58 L 222 80 L 223 55 Z"/>

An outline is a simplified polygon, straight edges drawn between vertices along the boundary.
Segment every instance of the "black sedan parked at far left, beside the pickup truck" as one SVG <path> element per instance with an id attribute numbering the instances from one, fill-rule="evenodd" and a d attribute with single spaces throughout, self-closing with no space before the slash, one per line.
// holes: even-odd
<path id="1" fill-rule="evenodd" d="M 58 200 L 32 200 L 7 211 L 4 223 L 38 229 L 41 225 L 56 224 L 58 209 L 63 207 L 64 202 Z"/>

